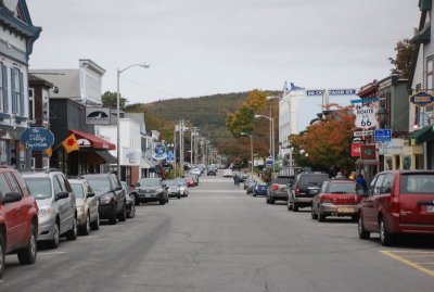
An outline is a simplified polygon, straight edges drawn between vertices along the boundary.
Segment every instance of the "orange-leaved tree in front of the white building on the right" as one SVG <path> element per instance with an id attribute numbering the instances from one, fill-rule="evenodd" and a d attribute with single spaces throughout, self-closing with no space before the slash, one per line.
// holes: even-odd
<path id="1" fill-rule="evenodd" d="M 301 135 L 290 137 L 297 165 L 312 166 L 318 170 L 329 169 L 331 165 L 353 169 L 349 149 L 354 119 L 348 107 L 343 107 L 316 120 Z"/>

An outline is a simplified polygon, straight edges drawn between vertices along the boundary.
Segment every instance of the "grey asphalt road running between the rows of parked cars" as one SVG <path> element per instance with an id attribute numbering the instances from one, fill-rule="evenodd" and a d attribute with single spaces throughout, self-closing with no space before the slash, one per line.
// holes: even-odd
<path id="1" fill-rule="evenodd" d="M 8 255 L 0 281 L 1 292 L 433 289 L 431 239 L 384 249 L 359 240 L 349 220 L 318 223 L 308 210 L 267 205 L 219 176 L 202 177 L 189 198 L 142 205 L 133 219 L 39 250 L 35 265 Z"/>

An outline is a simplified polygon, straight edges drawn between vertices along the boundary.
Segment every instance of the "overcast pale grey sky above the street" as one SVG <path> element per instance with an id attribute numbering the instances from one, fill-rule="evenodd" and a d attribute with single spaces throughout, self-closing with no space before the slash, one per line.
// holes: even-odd
<path id="1" fill-rule="evenodd" d="M 106 69 L 130 103 L 214 93 L 360 88 L 390 74 L 418 0 L 27 0 L 42 33 L 30 69 Z"/>

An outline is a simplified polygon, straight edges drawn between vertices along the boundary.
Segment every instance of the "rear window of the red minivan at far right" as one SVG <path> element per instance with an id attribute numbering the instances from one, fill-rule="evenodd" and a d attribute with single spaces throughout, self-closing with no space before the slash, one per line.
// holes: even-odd
<path id="1" fill-rule="evenodd" d="M 400 193 L 411 194 L 433 194 L 434 175 L 433 174 L 409 174 L 400 176 Z"/>

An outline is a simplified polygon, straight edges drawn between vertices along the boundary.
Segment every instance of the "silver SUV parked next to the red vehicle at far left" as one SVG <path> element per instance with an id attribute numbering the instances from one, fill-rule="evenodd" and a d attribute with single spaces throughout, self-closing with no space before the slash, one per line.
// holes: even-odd
<path id="1" fill-rule="evenodd" d="M 76 198 L 65 175 L 59 169 L 31 169 L 22 175 L 39 207 L 38 241 L 56 249 L 62 236 L 75 240 Z"/>

